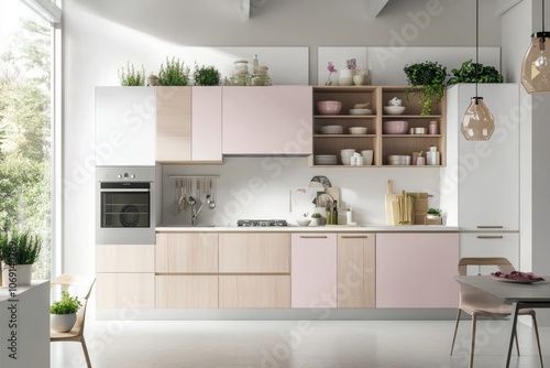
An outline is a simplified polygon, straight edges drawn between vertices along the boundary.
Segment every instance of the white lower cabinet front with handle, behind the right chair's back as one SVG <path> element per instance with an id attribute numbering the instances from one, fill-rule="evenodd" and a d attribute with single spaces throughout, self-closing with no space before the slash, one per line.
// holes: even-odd
<path id="1" fill-rule="evenodd" d="M 504 257 L 519 270 L 519 234 L 517 232 L 463 232 L 460 235 L 460 257 Z M 488 274 L 494 267 L 469 267 L 469 274 Z"/>

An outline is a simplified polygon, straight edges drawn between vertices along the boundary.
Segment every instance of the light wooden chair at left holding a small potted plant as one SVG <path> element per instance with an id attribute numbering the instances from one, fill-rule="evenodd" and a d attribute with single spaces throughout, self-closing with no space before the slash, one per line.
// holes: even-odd
<path id="1" fill-rule="evenodd" d="M 84 355 L 86 357 L 86 362 L 88 367 L 91 368 L 90 357 L 88 355 L 88 348 L 86 347 L 86 340 L 84 339 L 84 327 L 86 320 L 86 307 L 88 304 L 88 299 L 91 294 L 91 289 L 96 282 L 95 278 L 76 275 L 64 273 L 55 280 L 51 281 L 52 288 L 55 285 L 62 285 L 63 290 L 80 289 L 85 296 L 79 296 L 78 300 L 82 303 L 82 307 L 78 311 L 75 326 L 68 333 L 58 333 L 50 329 L 50 342 L 79 342 L 82 345 Z M 70 292 L 70 291 L 69 291 Z"/>

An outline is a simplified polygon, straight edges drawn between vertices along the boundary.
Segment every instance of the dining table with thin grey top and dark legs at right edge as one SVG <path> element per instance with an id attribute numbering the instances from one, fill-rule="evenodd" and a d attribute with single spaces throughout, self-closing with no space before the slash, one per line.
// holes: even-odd
<path id="1" fill-rule="evenodd" d="M 512 305 L 506 368 L 508 368 L 510 364 L 518 312 L 522 309 L 550 307 L 550 277 L 541 278 L 543 280 L 529 282 L 529 280 L 507 280 L 492 275 L 454 277 L 459 283 L 476 288 Z"/>

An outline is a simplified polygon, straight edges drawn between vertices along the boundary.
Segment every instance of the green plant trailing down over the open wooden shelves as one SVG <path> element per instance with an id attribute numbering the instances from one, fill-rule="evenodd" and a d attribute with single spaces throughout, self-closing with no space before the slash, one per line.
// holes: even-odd
<path id="1" fill-rule="evenodd" d="M 405 93 L 405 100 L 408 102 L 415 95 L 418 95 L 422 104 L 420 115 L 430 115 L 443 97 L 444 80 L 448 76 L 447 67 L 438 62 L 424 62 L 413 65 L 405 65 L 407 82 L 411 88 Z"/>

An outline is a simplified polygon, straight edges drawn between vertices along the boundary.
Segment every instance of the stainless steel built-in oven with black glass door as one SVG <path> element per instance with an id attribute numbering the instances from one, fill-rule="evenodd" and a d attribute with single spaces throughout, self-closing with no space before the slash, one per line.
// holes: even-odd
<path id="1" fill-rule="evenodd" d="M 96 167 L 96 243 L 155 243 L 155 167 Z"/>

